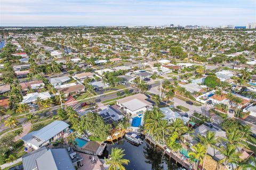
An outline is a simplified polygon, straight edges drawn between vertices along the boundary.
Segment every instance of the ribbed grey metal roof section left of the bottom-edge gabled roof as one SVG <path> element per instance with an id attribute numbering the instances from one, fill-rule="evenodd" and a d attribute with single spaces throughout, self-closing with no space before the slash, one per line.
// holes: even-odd
<path id="1" fill-rule="evenodd" d="M 35 169 L 37 167 L 36 159 L 41 157 L 42 155 L 47 152 L 47 149 L 45 147 L 39 148 L 35 151 L 32 151 L 26 155 L 22 156 L 22 164 L 24 170 L 31 170 Z"/>

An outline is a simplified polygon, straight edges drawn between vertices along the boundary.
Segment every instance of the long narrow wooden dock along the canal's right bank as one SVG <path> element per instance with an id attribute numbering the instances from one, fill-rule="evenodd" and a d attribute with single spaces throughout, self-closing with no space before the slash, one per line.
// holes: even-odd
<path id="1" fill-rule="evenodd" d="M 145 135 L 145 138 L 146 138 L 146 141 L 148 141 L 150 143 L 150 145 L 157 146 L 160 149 L 164 150 L 164 153 L 166 155 L 168 155 L 170 158 L 174 159 L 176 161 L 176 163 L 179 163 L 183 168 L 186 168 L 188 170 L 196 169 L 194 167 L 194 165 L 192 165 L 189 162 L 187 162 L 185 159 L 183 159 L 182 156 L 180 156 L 179 154 L 177 154 L 175 152 L 172 152 L 171 149 L 161 145 L 160 143 L 158 143 L 157 141 L 155 141 L 154 139 L 152 139 L 148 135 Z"/>

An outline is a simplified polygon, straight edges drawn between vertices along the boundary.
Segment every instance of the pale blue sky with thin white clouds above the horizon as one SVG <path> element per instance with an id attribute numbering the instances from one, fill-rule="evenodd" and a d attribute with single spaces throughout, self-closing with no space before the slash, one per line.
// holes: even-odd
<path id="1" fill-rule="evenodd" d="M 219 25 L 256 22 L 256 0 L 0 0 L 0 26 Z"/>

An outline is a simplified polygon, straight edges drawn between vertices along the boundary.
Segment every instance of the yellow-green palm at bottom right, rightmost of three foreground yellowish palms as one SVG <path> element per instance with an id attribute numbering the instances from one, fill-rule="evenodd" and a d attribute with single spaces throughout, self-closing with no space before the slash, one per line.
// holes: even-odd
<path id="1" fill-rule="evenodd" d="M 230 143 L 227 144 L 227 147 L 221 146 L 219 148 L 220 153 L 224 156 L 223 159 L 221 159 L 219 162 L 221 164 L 224 164 L 224 169 L 227 166 L 228 163 L 237 163 L 239 161 L 239 154 L 236 152 L 236 146 L 232 145 Z"/>

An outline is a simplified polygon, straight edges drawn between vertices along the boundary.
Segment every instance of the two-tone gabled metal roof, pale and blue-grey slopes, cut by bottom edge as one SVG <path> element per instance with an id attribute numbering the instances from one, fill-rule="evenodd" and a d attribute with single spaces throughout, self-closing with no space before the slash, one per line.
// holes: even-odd
<path id="1" fill-rule="evenodd" d="M 75 170 L 66 149 L 49 149 L 36 159 L 38 170 Z"/>

